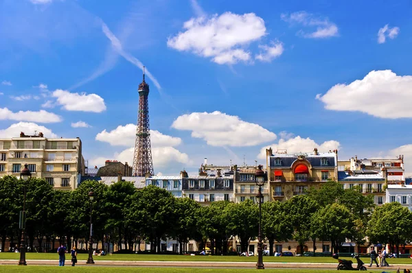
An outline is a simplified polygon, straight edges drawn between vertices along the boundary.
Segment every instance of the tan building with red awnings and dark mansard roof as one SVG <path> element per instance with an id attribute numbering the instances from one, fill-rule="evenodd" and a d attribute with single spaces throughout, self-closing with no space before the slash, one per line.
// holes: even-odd
<path id="1" fill-rule="evenodd" d="M 338 151 L 290 153 L 286 150 L 273 154 L 266 149 L 266 169 L 272 200 L 288 200 L 304 194 L 310 187 L 319 188 L 328 179 L 336 180 Z"/>

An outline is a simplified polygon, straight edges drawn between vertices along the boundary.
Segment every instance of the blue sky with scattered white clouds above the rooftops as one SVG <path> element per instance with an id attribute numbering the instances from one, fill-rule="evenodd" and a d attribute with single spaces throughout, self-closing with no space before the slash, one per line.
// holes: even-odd
<path id="1" fill-rule="evenodd" d="M 145 65 L 155 173 L 196 171 L 205 157 L 264 163 L 268 146 L 404 154 L 412 172 L 411 11 L 409 1 L 0 0 L 0 137 L 80 137 L 90 166 L 132 163 Z"/>

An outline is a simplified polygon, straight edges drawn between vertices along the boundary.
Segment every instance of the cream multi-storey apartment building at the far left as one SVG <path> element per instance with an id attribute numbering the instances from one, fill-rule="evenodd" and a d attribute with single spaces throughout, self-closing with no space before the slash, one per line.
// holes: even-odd
<path id="1" fill-rule="evenodd" d="M 32 177 L 45 178 L 55 189 L 76 189 L 84 175 L 82 141 L 47 139 L 41 132 L 0 139 L 0 176 L 20 176 L 25 164 Z"/>

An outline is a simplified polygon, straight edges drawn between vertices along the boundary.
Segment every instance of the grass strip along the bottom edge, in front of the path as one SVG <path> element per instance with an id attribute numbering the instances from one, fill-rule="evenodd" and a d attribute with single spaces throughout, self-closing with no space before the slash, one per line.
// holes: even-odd
<path id="1" fill-rule="evenodd" d="M 128 273 L 128 272 L 148 272 L 148 273 L 186 273 L 186 272 L 195 272 L 195 273 L 209 273 L 209 272 L 222 272 L 222 273 L 235 273 L 235 272 L 256 272 L 255 269 L 210 269 L 210 268 L 102 268 L 102 267 L 88 267 L 88 266 L 76 266 L 74 268 L 65 266 L 64 268 L 57 266 L 19 266 L 19 265 L 1 265 L 0 272 L 86 272 L 86 273 L 93 273 L 93 272 L 116 272 L 116 273 Z M 277 270 L 271 269 L 272 272 L 275 273 L 315 273 L 315 272 L 322 272 L 322 273 L 332 273 L 336 272 L 336 270 Z M 389 272 L 396 272 L 391 270 Z"/>

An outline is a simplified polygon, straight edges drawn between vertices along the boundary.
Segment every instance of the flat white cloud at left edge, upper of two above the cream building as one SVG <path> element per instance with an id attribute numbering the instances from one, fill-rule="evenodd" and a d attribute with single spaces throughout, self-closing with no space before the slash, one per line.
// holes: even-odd
<path id="1" fill-rule="evenodd" d="M 14 121 L 34 121 L 41 123 L 54 123 L 62 121 L 62 118 L 52 112 L 39 111 L 19 111 L 12 112 L 8 108 L 0 108 L 0 120 Z"/>

